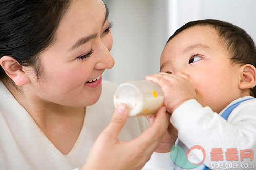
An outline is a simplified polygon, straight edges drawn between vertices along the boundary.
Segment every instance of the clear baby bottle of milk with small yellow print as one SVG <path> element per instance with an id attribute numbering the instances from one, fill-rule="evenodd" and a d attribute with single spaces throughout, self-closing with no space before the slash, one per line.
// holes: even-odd
<path id="1" fill-rule="evenodd" d="M 114 94 L 114 105 L 124 103 L 128 116 L 156 114 L 163 106 L 163 92 L 154 82 L 148 80 L 129 81 L 120 84 Z"/>

